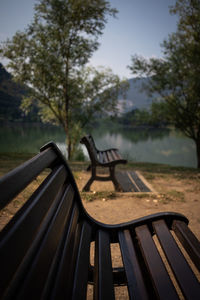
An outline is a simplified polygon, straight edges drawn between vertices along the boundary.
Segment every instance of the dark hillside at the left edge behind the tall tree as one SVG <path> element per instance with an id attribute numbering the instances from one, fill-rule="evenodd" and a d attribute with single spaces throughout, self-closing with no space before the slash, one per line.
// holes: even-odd
<path id="1" fill-rule="evenodd" d="M 20 109 L 28 88 L 14 82 L 12 75 L 0 63 L 0 121 L 38 121 L 36 108 L 25 116 Z"/>

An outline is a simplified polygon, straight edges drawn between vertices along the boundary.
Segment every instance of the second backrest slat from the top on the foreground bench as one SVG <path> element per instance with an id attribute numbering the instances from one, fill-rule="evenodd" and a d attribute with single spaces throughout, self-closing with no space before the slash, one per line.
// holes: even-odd
<path id="1" fill-rule="evenodd" d="M 4 269 L 1 291 L 11 280 L 14 270 L 19 266 L 33 242 L 43 219 L 48 223 L 52 217 L 60 201 L 59 190 L 65 178 L 66 171 L 64 167 L 56 168 L 1 232 L 0 265 Z M 55 199 L 57 200 L 54 201 Z M 48 210 L 49 214 L 47 215 Z M 40 232 L 42 232 L 41 228 Z M 15 249 L 13 249 L 13 244 L 15 244 Z"/>

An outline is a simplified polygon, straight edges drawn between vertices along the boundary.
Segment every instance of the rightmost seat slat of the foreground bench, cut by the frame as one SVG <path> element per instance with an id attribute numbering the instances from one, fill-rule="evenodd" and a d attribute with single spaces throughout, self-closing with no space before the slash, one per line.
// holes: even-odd
<path id="1" fill-rule="evenodd" d="M 174 221 L 172 228 L 193 263 L 200 271 L 200 242 L 184 222 Z"/>

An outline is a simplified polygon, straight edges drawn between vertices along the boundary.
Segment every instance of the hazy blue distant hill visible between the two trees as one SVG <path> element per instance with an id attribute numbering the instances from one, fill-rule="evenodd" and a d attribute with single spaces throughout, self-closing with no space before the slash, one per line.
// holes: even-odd
<path id="1" fill-rule="evenodd" d="M 148 109 L 151 106 L 153 97 L 142 91 L 142 85 L 149 81 L 149 78 L 131 78 L 128 80 L 130 87 L 126 99 L 119 99 L 120 111 L 128 112 L 133 109 Z"/>

